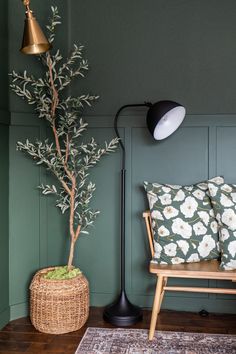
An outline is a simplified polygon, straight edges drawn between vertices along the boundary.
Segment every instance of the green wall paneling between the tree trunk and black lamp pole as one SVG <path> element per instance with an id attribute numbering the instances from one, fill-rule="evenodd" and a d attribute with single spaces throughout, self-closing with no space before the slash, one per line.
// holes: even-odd
<path id="1" fill-rule="evenodd" d="M 90 124 L 88 134 L 101 144 L 114 137 L 110 127 L 95 128 Z M 105 156 L 100 164 L 91 170 L 91 179 L 96 183 L 93 206 L 101 211 L 89 236 L 81 236 L 77 245 L 77 264 L 84 270 L 94 294 L 112 294 L 117 291 L 119 273 L 119 175 L 120 154 Z"/>

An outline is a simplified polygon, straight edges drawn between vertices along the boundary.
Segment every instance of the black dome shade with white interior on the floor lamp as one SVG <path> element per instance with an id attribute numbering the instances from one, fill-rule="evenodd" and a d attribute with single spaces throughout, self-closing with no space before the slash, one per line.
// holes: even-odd
<path id="1" fill-rule="evenodd" d="M 170 136 L 183 122 L 186 109 L 173 101 L 154 103 L 147 112 L 147 127 L 155 140 Z"/>

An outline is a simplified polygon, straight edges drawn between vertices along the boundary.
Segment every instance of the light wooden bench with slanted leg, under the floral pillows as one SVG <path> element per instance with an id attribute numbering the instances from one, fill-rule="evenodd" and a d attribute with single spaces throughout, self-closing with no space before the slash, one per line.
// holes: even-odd
<path id="1" fill-rule="evenodd" d="M 150 212 L 143 213 L 147 228 L 147 235 L 152 257 L 154 256 L 154 238 L 151 227 Z M 192 278 L 192 279 L 217 279 L 236 281 L 236 271 L 225 271 L 219 268 L 219 261 L 201 261 L 197 263 L 171 264 L 162 265 L 150 262 L 149 270 L 156 274 L 157 284 L 154 295 L 152 317 L 149 330 L 149 339 L 152 340 L 156 328 L 157 316 L 160 312 L 161 303 L 165 291 L 184 291 L 198 293 L 215 293 L 215 294 L 236 294 L 236 289 L 229 288 L 202 288 L 202 287 L 186 287 L 186 286 L 168 286 L 168 278 Z"/>

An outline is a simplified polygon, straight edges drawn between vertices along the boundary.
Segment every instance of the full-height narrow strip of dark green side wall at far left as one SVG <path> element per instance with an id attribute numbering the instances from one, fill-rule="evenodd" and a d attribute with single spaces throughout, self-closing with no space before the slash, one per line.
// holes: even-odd
<path id="1" fill-rule="evenodd" d="M 0 13 L 0 328 L 9 321 L 9 139 L 7 1 Z"/>

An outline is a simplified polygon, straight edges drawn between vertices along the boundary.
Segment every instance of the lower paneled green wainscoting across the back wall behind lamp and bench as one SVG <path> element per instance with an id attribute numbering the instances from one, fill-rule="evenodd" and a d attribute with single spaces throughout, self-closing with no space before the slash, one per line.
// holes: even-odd
<path id="1" fill-rule="evenodd" d="M 86 119 L 89 123 L 88 136 L 94 136 L 100 142 L 114 136 L 113 117 L 87 116 Z M 35 125 L 26 127 L 24 120 L 27 124 L 34 121 Z M 147 201 L 142 182 L 150 180 L 191 184 L 216 174 L 225 175 L 226 180 L 230 179 L 231 182 L 236 181 L 236 173 L 234 174 L 231 165 L 222 162 L 225 153 L 233 160 L 236 149 L 236 116 L 187 116 L 181 128 L 163 142 L 152 140 L 144 127 L 144 120 L 143 111 L 137 112 L 135 116 L 122 116 L 120 131 L 127 148 L 127 291 L 137 304 L 151 306 L 155 277 L 148 272 L 150 255 L 142 219 Z M 43 129 L 37 126 L 37 119 L 28 114 L 13 114 L 12 123 L 10 305 L 11 318 L 16 318 L 27 313 L 27 286 L 32 272 L 37 267 L 61 264 L 65 261 L 64 254 L 68 243 L 66 218 L 61 218 L 53 198 L 40 196 L 35 189 L 41 180 L 50 182 L 50 177 L 22 153 L 15 151 L 15 141 L 27 137 L 32 139 L 40 134 L 43 136 Z M 226 130 L 232 133 L 227 134 Z M 112 301 L 119 287 L 120 163 L 120 152 L 117 152 L 106 156 L 101 164 L 91 171 L 91 178 L 97 185 L 93 203 L 95 208 L 101 210 L 101 215 L 91 234 L 81 236 L 76 249 L 75 263 L 90 281 L 91 304 L 95 306 L 104 306 Z M 14 179 L 16 174 L 17 180 Z M 17 188 L 19 181 L 22 182 L 20 189 Z M 19 205 L 22 209 L 20 215 L 15 212 Z M 30 218 L 27 217 L 29 205 Z M 16 262 L 19 249 L 20 261 Z M 204 280 L 181 280 L 178 283 L 194 286 L 209 284 Z M 220 286 L 220 283 L 215 283 Z M 235 284 L 229 286 L 235 287 Z M 205 308 L 208 311 L 233 313 L 235 300 L 234 297 L 207 294 L 170 293 L 166 296 L 163 307 L 192 311 Z"/>

